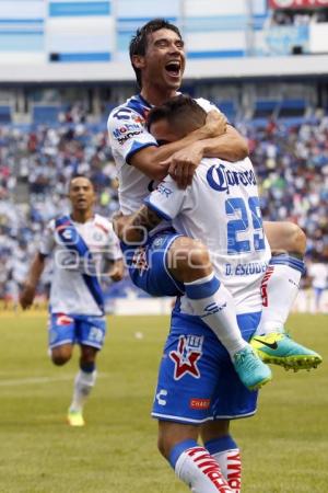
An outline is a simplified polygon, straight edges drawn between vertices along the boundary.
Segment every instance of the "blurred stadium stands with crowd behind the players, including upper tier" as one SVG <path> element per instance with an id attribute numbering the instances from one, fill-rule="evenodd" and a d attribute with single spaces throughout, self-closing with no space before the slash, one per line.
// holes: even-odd
<path id="1" fill-rule="evenodd" d="M 184 34 L 184 90 L 213 101 L 248 137 L 265 217 L 297 221 L 308 254 L 328 260 L 328 9 L 320 0 L 44 3 L 0 2 L 0 298 L 16 296 L 43 227 L 67 206 L 72 173 L 93 179 L 101 214 L 117 209 L 106 121 L 136 92 L 128 44 L 155 16 Z"/>

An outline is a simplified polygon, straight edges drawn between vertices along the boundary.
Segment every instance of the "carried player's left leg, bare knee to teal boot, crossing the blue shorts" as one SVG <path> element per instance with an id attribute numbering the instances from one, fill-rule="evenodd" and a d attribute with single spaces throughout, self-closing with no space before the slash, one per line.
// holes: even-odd
<path id="1" fill-rule="evenodd" d="M 167 265 L 173 277 L 184 284 L 195 314 L 227 349 L 243 383 L 250 390 L 267 383 L 271 371 L 243 339 L 234 299 L 214 275 L 208 249 L 198 240 L 179 237 L 169 246 Z"/>

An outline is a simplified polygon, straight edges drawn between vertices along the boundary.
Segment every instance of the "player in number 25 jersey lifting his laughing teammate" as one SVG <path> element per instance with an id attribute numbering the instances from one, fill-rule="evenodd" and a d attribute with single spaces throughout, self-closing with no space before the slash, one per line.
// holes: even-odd
<path id="1" fill-rule="evenodd" d="M 204 110 L 184 95 L 154 107 L 148 117 L 150 131 L 162 142 L 183 139 L 204 122 Z M 236 210 L 242 211 L 243 225 L 235 218 Z M 162 220 L 181 234 L 198 238 L 210 257 L 203 272 L 207 313 L 202 301 L 198 307 L 190 302 L 197 300 L 195 283 L 173 310 L 152 412 L 159 420 L 159 448 L 192 492 L 239 493 L 242 460 L 230 434 L 230 419 L 253 415 L 257 392 L 241 383 L 208 320 L 215 310 L 226 309 L 211 300 L 221 279 L 233 296 L 245 340 L 261 317 L 260 286 L 271 252 L 249 158 L 237 162 L 203 158 L 185 190 L 166 176 L 138 211 L 118 218 L 117 227 L 127 242 L 143 243 L 144 232 Z M 199 435 L 204 446 L 199 445 Z"/>

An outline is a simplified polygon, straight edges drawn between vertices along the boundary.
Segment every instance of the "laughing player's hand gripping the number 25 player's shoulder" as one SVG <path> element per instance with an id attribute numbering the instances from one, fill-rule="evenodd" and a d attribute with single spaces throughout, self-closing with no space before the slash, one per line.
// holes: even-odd
<path id="1" fill-rule="evenodd" d="M 167 173 L 176 181 L 179 188 L 191 185 L 196 168 L 202 159 L 202 146 L 195 142 L 186 149 L 180 149 L 163 161 L 168 165 Z"/>

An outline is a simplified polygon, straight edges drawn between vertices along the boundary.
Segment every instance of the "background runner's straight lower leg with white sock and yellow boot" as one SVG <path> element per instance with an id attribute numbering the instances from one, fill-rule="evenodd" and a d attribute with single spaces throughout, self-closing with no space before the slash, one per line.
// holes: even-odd
<path id="1" fill-rule="evenodd" d="M 71 426 L 83 426 L 83 408 L 96 381 L 95 347 L 81 345 L 80 370 L 74 380 L 72 402 L 68 412 L 68 423 Z"/>

